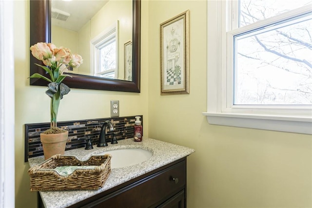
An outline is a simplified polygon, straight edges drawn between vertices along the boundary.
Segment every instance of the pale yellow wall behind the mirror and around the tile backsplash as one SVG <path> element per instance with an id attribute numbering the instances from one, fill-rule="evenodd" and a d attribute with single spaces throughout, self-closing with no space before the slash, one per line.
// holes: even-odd
<path id="1" fill-rule="evenodd" d="M 147 16 L 148 8 L 142 7 Z M 147 22 L 142 26 L 147 28 Z M 14 1 L 15 53 L 15 191 L 16 208 L 35 208 L 36 193 L 29 191 L 28 163 L 24 163 L 24 124 L 50 121 L 47 87 L 30 86 L 29 80 L 29 1 Z M 147 43 L 147 30 L 142 31 Z M 147 49 L 142 48 L 141 93 L 71 89 L 59 106 L 59 121 L 110 117 L 110 101 L 119 100 L 120 116 L 143 115 L 144 135 L 148 136 Z M 146 119 L 146 120 L 145 120 Z M 13 162 L 13 161 L 12 161 Z"/>

